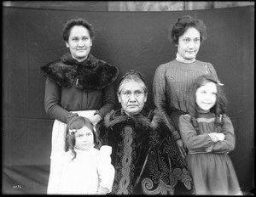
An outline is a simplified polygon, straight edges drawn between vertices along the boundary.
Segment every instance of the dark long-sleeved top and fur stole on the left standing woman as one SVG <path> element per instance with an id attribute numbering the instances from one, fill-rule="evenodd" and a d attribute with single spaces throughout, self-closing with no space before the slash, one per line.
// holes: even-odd
<path id="1" fill-rule="evenodd" d="M 89 55 L 83 62 L 66 53 L 41 67 L 46 77 L 44 108 L 52 118 L 67 123 L 72 111 L 98 110 L 104 117 L 115 104 L 113 82 L 119 70 Z"/>

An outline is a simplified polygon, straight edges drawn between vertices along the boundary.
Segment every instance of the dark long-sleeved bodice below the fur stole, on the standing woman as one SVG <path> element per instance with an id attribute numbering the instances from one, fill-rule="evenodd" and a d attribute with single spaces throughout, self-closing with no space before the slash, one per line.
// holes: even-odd
<path id="1" fill-rule="evenodd" d="M 102 90 L 81 91 L 73 85 L 63 88 L 55 82 L 46 79 L 44 108 L 52 118 L 67 123 L 67 117 L 75 110 L 99 110 L 104 117 L 113 109 L 115 98 L 113 84 Z"/>

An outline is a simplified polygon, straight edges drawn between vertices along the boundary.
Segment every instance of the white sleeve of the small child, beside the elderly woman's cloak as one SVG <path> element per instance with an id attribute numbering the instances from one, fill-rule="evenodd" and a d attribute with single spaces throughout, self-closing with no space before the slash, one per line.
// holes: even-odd
<path id="1" fill-rule="evenodd" d="M 111 153 L 112 147 L 103 145 L 99 151 L 98 159 L 98 173 L 100 177 L 100 188 L 108 189 L 108 193 L 112 190 L 113 178 L 114 178 L 114 168 L 111 164 Z"/>

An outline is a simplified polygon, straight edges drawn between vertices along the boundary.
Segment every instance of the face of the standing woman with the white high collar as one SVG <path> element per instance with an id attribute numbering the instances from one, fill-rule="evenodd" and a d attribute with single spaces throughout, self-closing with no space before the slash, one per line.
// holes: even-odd
<path id="1" fill-rule="evenodd" d="M 189 27 L 178 37 L 177 52 L 183 59 L 194 59 L 200 48 L 200 32 L 195 27 Z"/>

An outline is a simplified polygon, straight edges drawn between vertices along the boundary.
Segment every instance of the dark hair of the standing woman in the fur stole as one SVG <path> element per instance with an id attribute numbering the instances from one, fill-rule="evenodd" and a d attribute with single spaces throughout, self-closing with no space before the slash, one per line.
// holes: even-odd
<path id="1" fill-rule="evenodd" d="M 90 24 L 87 20 L 79 18 L 79 19 L 68 20 L 64 24 L 64 27 L 62 29 L 62 37 L 65 42 L 68 41 L 68 37 L 70 35 L 70 30 L 75 25 L 84 26 L 89 31 L 90 39 L 93 40 L 95 38 L 94 26 L 92 24 Z"/>

